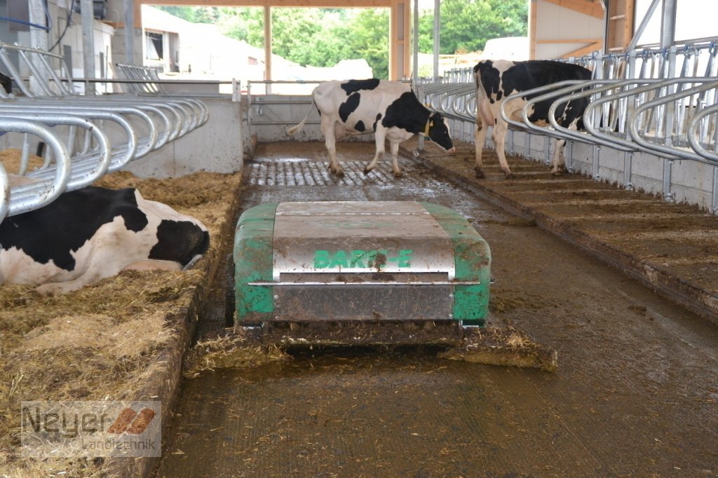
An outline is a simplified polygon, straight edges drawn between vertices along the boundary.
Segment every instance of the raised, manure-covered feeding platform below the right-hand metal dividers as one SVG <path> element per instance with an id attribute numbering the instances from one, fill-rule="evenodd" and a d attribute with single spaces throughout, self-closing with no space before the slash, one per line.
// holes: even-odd
<path id="1" fill-rule="evenodd" d="M 416 150 L 406 141 L 404 154 Z M 648 283 L 718 323 L 718 215 L 662 201 L 579 174 L 554 177 L 536 161 L 511 159 L 505 179 L 484 150 L 486 179 L 474 177 L 474 146 L 451 156 L 427 141 L 421 159 L 480 197 L 534 220 L 564 240 Z"/>

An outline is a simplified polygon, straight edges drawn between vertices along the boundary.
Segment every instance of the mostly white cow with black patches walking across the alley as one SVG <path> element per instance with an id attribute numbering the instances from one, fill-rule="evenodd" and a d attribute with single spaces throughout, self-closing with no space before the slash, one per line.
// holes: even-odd
<path id="1" fill-rule="evenodd" d="M 312 104 L 322 118 L 322 133 L 329 152 L 329 170 L 338 176 L 344 170 L 337 161 L 336 141 L 350 134 L 374 133 L 376 154 L 365 167 L 368 173 L 384 154 L 384 140 L 391 144 L 393 173 L 401 176 L 396 157 L 399 144 L 414 134 L 422 134 L 449 152 L 454 144 L 449 128 L 439 113 L 432 113 L 419 102 L 411 86 L 398 81 L 348 80 L 320 83 L 312 92 Z M 311 108 L 297 126 L 289 128 L 290 135 L 304 127 Z"/>

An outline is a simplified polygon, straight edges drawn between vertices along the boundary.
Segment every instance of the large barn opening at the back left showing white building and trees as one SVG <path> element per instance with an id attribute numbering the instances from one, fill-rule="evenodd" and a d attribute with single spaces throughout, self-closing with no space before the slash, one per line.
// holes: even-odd
<path id="1" fill-rule="evenodd" d="M 177 34 L 178 70 L 193 79 L 401 79 L 410 73 L 392 55 L 392 11 L 388 2 L 372 8 L 154 4 L 141 6 L 141 25 Z"/>

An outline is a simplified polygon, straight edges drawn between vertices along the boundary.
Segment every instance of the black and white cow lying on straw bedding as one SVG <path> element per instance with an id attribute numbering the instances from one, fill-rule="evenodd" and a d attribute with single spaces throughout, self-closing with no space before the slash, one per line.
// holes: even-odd
<path id="1" fill-rule="evenodd" d="M 209 240 L 201 222 L 136 189 L 85 187 L 0 222 L 0 283 L 64 294 L 126 268 L 178 271 Z"/>

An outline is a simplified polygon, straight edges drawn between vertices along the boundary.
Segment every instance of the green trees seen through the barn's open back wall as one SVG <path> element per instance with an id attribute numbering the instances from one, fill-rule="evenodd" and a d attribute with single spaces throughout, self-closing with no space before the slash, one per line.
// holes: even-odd
<path id="1" fill-rule="evenodd" d="M 217 24 L 228 37 L 264 46 L 264 11 L 256 7 L 161 6 L 195 23 Z M 442 0 L 440 52 L 482 50 L 488 39 L 526 35 L 527 0 Z M 300 65 L 325 67 L 364 58 L 388 78 L 388 9 L 273 8 L 272 50 Z M 434 50 L 434 12 L 419 15 L 419 51 Z"/>

